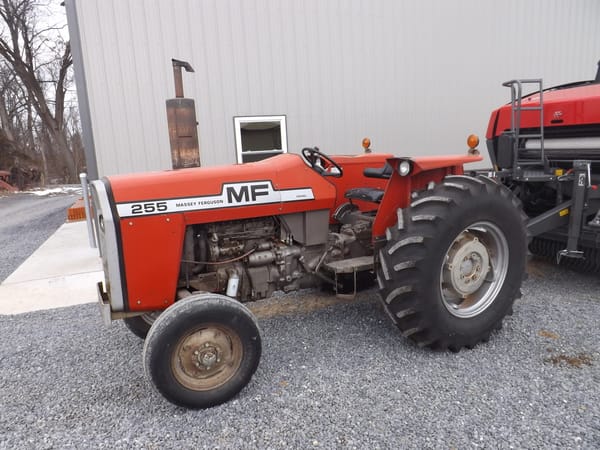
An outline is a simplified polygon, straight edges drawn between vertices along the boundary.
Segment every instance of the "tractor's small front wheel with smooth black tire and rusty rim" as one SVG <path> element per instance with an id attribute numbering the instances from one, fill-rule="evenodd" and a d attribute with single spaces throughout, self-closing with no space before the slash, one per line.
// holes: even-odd
<path id="1" fill-rule="evenodd" d="M 144 344 L 144 367 L 170 402 L 209 408 L 234 397 L 258 367 L 261 339 L 252 313 L 218 294 L 174 303 L 156 319 Z"/>

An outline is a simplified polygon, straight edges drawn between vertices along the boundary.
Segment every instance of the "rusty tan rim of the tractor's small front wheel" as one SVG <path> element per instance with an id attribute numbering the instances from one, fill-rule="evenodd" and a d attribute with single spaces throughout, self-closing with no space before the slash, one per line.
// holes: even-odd
<path id="1" fill-rule="evenodd" d="M 194 391 L 227 383 L 242 362 L 242 341 L 228 327 L 204 325 L 179 340 L 171 359 L 177 381 Z"/>

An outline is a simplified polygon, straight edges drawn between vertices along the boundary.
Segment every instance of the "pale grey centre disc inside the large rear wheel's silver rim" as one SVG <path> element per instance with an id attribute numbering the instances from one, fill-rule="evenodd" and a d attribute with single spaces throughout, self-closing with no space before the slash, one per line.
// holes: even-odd
<path id="1" fill-rule="evenodd" d="M 477 237 L 464 235 L 450 248 L 444 281 L 461 298 L 476 292 L 490 271 L 490 255 Z"/>

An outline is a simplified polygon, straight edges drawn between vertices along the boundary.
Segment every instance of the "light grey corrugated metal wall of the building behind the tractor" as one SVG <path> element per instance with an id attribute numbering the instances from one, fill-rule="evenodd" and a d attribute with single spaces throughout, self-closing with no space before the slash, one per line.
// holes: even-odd
<path id="1" fill-rule="evenodd" d="M 69 0 L 68 0 L 69 1 Z M 600 2 L 70 0 L 100 175 L 170 167 L 164 101 L 189 61 L 203 165 L 235 162 L 233 117 L 287 116 L 290 151 L 462 152 L 501 83 L 593 78 Z"/>

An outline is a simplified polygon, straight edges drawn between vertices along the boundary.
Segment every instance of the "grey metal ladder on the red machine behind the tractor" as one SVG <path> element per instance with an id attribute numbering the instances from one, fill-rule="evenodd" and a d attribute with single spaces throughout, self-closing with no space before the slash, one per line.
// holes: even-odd
<path id="1" fill-rule="evenodd" d="M 539 104 L 537 106 L 523 106 L 523 87 L 524 85 L 534 85 L 534 92 L 538 92 Z M 547 177 L 550 170 L 548 160 L 544 150 L 544 90 L 541 78 L 510 80 L 502 83 L 502 86 L 510 88 L 510 128 L 513 140 L 513 164 L 515 170 L 515 179 L 522 181 L 533 181 L 537 177 Z M 529 95 L 529 94 L 527 94 Z M 535 102 L 532 102 L 535 104 Z M 539 132 L 523 133 L 521 129 L 521 119 L 523 113 L 529 114 L 529 111 L 538 113 L 540 124 Z M 525 142 L 528 139 L 539 139 L 540 153 L 539 159 L 523 160 L 520 158 L 522 152 L 526 150 Z"/>

